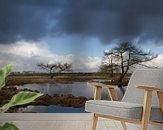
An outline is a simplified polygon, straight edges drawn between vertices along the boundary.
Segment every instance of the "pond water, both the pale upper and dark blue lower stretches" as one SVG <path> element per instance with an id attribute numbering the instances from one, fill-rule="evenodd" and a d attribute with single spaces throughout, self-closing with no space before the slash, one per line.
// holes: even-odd
<path id="1" fill-rule="evenodd" d="M 87 82 L 74 82 L 70 84 L 26 84 L 23 86 L 17 86 L 17 89 L 31 89 L 37 90 L 43 94 L 53 96 L 54 94 L 71 94 L 73 96 L 84 96 L 87 98 L 93 98 L 94 89 L 89 87 Z M 118 97 L 121 99 L 122 94 L 119 89 Z M 102 91 L 102 99 L 108 99 L 108 91 L 106 88 Z M 26 108 L 20 108 L 18 112 L 40 112 L 40 113 L 83 113 L 84 108 L 65 107 L 60 105 L 49 106 L 27 106 Z"/>

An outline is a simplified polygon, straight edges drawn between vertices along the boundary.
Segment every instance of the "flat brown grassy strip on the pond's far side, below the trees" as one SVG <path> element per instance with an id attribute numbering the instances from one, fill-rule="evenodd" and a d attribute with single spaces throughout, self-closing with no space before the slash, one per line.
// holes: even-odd
<path id="1" fill-rule="evenodd" d="M 109 80 L 114 81 L 113 84 L 116 84 L 116 80 L 119 74 L 115 74 L 113 77 L 109 74 L 102 73 L 62 73 L 55 74 L 51 78 L 50 74 L 46 73 L 33 73 L 33 74 L 12 74 L 7 77 L 7 85 L 23 85 L 23 84 L 33 84 L 33 83 L 71 83 L 71 82 L 87 82 L 91 80 Z M 125 82 L 128 82 L 130 74 L 125 78 Z"/>

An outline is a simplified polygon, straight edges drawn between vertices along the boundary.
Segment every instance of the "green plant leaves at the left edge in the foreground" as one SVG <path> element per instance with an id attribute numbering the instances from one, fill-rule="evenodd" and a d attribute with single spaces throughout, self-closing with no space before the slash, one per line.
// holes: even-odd
<path id="1" fill-rule="evenodd" d="M 5 79 L 9 75 L 13 68 L 13 65 L 9 64 L 3 69 L 0 70 L 0 90 L 6 85 Z M 19 92 L 12 97 L 12 99 L 0 107 L 0 114 L 6 112 L 10 107 L 19 106 L 33 102 L 36 98 L 42 96 L 41 93 L 23 91 Z M 3 126 L 0 126 L 0 130 L 19 130 L 17 126 L 12 123 L 5 123 Z"/>

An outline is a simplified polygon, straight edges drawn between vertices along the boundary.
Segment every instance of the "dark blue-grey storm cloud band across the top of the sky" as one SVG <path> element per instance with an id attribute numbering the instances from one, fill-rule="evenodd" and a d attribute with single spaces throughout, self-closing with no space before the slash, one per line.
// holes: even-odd
<path id="1" fill-rule="evenodd" d="M 0 0 L 0 43 L 75 34 L 163 40 L 162 0 Z"/>

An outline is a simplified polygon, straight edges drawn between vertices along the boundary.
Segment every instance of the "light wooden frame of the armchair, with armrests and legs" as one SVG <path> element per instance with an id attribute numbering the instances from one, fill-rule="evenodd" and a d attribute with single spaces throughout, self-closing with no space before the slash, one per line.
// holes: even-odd
<path id="1" fill-rule="evenodd" d="M 116 91 L 115 91 L 115 86 L 106 85 L 106 84 L 103 84 L 103 83 L 95 83 L 95 82 L 90 82 L 88 84 L 95 88 L 94 100 L 101 100 L 102 87 L 106 87 L 108 89 L 108 94 L 109 94 L 112 101 L 117 101 L 118 100 L 117 94 L 116 94 Z M 143 104 L 143 113 L 142 113 L 142 119 L 140 121 L 139 120 L 129 120 L 129 119 L 125 119 L 125 118 L 119 118 L 119 117 L 113 117 L 113 116 L 107 116 L 107 115 L 93 113 L 92 130 L 96 130 L 98 117 L 108 118 L 108 119 L 120 121 L 124 130 L 127 130 L 126 123 L 140 124 L 141 125 L 141 130 L 147 130 L 149 124 L 163 126 L 163 123 L 151 122 L 150 121 L 152 93 L 154 91 L 157 92 L 161 112 L 163 114 L 163 89 L 157 88 L 157 87 L 151 87 L 151 86 L 150 87 L 149 86 L 138 86 L 137 89 L 141 89 L 141 90 L 145 91 L 145 93 L 144 93 L 144 104 Z"/>

